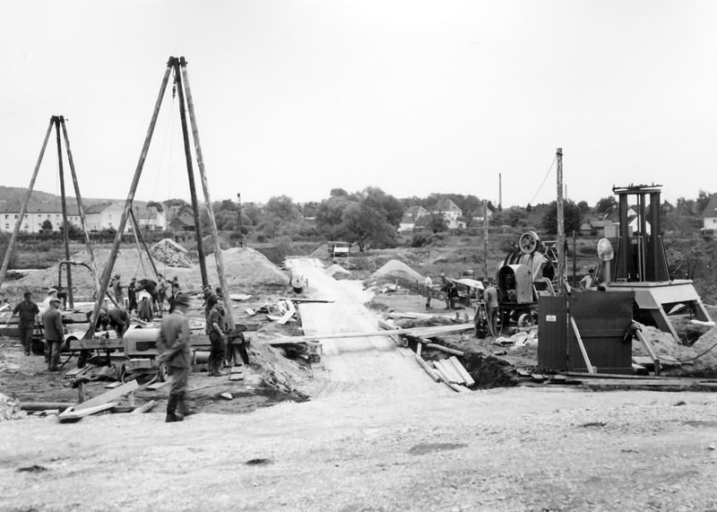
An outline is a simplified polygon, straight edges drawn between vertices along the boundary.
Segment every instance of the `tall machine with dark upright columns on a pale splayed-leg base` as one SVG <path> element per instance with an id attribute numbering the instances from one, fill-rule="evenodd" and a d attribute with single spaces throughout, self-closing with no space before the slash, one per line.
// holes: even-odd
<path id="1" fill-rule="evenodd" d="M 613 187 L 612 191 L 618 195 L 619 232 L 608 237 L 617 247 L 614 265 L 604 242 L 603 256 L 599 250 L 605 264 L 606 291 L 634 291 L 635 320 L 654 325 L 676 339 L 678 333 L 670 314 L 687 309 L 698 320 L 711 322 L 692 280 L 673 279 L 669 272 L 661 237 L 661 185 Z M 635 204 L 630 204 L 633 196 Z"/>

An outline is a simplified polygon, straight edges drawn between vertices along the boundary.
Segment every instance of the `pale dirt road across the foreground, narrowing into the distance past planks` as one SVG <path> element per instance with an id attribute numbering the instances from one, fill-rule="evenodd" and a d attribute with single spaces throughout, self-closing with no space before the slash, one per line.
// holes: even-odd
<path id="1" fill-rule="evenodd" d="M 371 324 L 294 265 L 334 300 L 300 307 L 307 331 Z M 392 343 L 326 341 L 303 404 L 4 421 L 0 510 L 717 510 L 715 395 L 455 394 Z"/>

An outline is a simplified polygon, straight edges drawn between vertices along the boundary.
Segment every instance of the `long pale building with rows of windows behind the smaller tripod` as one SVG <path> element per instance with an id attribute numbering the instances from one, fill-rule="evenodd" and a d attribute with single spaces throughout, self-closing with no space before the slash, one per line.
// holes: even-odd
<path id="1" fill-rule="evenodd" d="M 12 232 L 20 218 L 21 210 L 22 204 L 19 201 L 0 202 L 0 231 Z M 39 233 L 45 221 L 50 221 L 52 229 L 57 230 L 62 226 L 62 219 L 61 203 L 56 201 L 30 201 L 20 223 L 20 230 L 26 233 Z M 80 209 L 76 204 L 67 204 L 67 221 L 78 228 L 82 226 Z"/>

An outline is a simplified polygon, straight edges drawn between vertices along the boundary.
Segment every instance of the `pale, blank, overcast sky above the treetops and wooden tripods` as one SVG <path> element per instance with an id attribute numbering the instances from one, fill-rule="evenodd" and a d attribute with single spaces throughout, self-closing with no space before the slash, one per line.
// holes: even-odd
<path id="1" fill-rule="evenodd" d="M 29 186 L 64 116 L 82 196 L 124 201 L 185 56 L 212 201 L 524 207 L 556 199 L 557 148 L 575 202 L 695 198 L 717 193 L 716 26 L 693 0 L 2 0 L 0 185 Z M 189 199 L 177 102 L 169 86 L 137 199 Z M 35 188 L 59 194 L 55 136 Z"/>

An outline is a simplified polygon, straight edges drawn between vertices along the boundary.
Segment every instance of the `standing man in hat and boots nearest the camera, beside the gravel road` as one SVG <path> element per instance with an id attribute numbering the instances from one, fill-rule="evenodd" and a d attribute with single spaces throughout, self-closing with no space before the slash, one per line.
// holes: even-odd
<path id="1" fill-rule="evenodd" d="M 192 368 L 192 342 L 189 338 L 189 320 L 186 317 L 188 308 L 189 298 L 183 293 L 177 295 L 174 299 L 174 311 L 162 318 L 160 339 L 157 342 L 157 351 L 160 352 L 157 359 L 167 365 L 169 375 L 172 376 L 165 419 L 168 423 L 183 421 L 184 416 L 193 412 L 187 408 L 185 402 L 186 384 L 189 370 Z"/>

